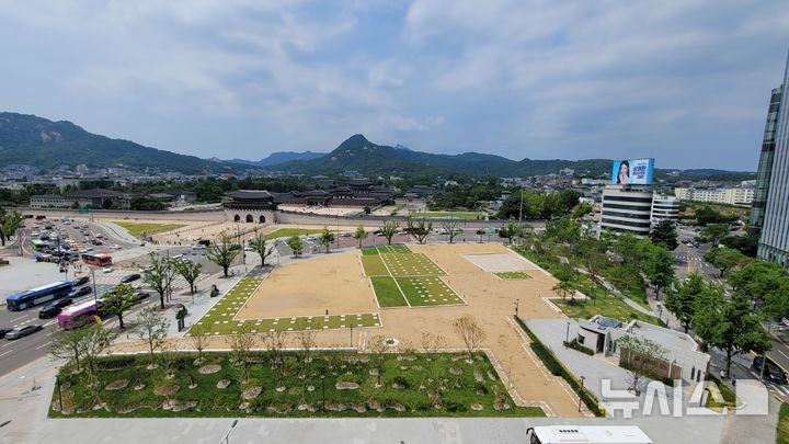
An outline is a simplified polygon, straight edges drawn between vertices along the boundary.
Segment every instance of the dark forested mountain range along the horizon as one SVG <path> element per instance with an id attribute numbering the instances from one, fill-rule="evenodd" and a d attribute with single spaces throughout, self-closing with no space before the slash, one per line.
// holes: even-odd
<path id="1" fill-rule="evenodd" d="M 259 169 L 307 175 L 333 175 L 355 170 L 365 175 L 385 178 L 439 174 L 526 178 L 557 173 L 564 168 L 594 178 L 608 174 L 611 167 L 610 159 L 512 160 L 480 152 L 430 153 L 414 151 L 401 145 L 377 145 L 361 134 L 350 137 L 328 153 L 278 151 L 258 161 L 201 159 L 92 134 L 67 121 L 53 122 L 34 115 L 5 112 L 0 113 L 0 166 L 11 163 L 33 164 L 45 170 L 59 166 L 85 164 L 91 168 L 150 168 L 185 174 L 204 171 L 237 173 Z M 665 175 L 668 171 L 672 170 L 658 170 L 656 175 Z M 687 170 L 679 175 L 693 179 L 725 177 L 742 180 L 753 178 L 755 173 Z"/>

